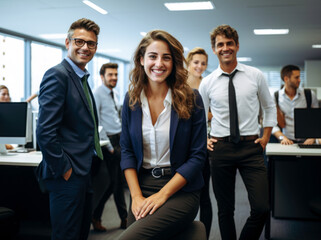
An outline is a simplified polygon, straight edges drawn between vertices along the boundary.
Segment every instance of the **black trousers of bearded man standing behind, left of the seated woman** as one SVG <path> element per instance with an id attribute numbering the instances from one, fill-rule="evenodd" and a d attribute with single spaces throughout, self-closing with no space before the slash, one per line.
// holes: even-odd
<path id="1" fill-rule="evenodd" d="M 100 220 L 103 214 L 104 206 L 111 194 L 114 194 L 114 200 L 120 219 L 127 218 L 127 207 L 124 195 L 124 177 L 120 169 L 120 135 L 109 136 L 111 144 L 114 147 L 114 153 L 111 154 L 107 148 L 102 148 L 104 161 L 110 174 L 110 184 L 97 207 L 94 209 L 93 218 Z"/>

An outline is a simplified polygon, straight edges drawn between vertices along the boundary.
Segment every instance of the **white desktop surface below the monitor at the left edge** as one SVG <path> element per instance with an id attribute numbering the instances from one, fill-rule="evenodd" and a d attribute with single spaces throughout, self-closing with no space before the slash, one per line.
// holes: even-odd
<path id="1" fill-rule="evenodd" d="M 41 152 L 8 153 L 0 155 L 0 165 L 37 167 L 42 160 Z"/>

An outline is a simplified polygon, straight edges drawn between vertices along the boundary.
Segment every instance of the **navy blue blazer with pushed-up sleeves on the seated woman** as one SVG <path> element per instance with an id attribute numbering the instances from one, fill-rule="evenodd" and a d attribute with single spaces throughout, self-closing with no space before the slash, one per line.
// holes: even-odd
<path id="1" fill-rule="evenodd" d="M 192 192 L 204 185 L 202 168 L 206 158 L 206 120 L 202 98 L 195 90 L 196 101 L 189 119 L 179 119 L 172 107 L 170 121 L 170 162 L 172 175 L 180 173 L 187 184 L 183 191 Z M 122 110 L 121 168 L 135 168 L 143 163 L 142 109 L 136 104 L 131 110 L 128 94 Z"/>

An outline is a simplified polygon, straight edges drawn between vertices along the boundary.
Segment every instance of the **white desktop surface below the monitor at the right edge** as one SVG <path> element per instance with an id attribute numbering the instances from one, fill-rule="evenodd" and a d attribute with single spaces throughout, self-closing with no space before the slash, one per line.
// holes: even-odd
<path id="1" fill-rule="evenodd" d="M 321 156 L 320 148 L 299 148 L 297 144 L 282 145 L 280 143 L 268 143 L 266 155 L 278 156 Z"/>

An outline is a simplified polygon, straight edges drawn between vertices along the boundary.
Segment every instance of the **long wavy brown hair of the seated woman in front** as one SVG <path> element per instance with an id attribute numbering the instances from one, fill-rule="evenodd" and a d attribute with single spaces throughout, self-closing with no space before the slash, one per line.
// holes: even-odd
<path id="1" fill-rule="evenodd" d="M 163 30 L 153 30 L 147 33 L 134 53 L 134 68 L 130 72 L 128 90 L 129 106 L 131 109 L 134 109 L 135 104 L 141 104 L 141 91 L 147 90 L 148 78 L 140 60 L 141 58 L 144 58 L 146 48 L 153 41 L 164 41 L 169 46 L 173 58 L 173 69 L 167 77 L 166 83 L 172 91 L 172 106 L 179 118 L 188 119 L 190 118 L 194 107 L 195 94 L 187 84 L 188 72 L 184 68 L 184 64 L 186 63 L 184 48 L 176 38 Z"/>

